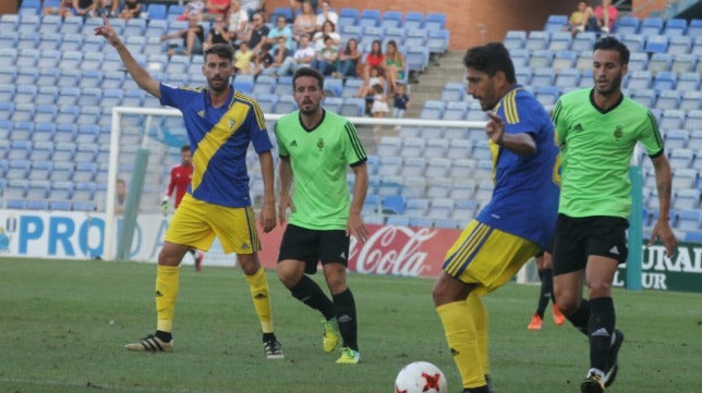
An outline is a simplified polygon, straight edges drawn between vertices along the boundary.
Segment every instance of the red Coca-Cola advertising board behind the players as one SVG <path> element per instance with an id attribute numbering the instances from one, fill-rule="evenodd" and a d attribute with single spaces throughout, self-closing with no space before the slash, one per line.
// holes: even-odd
<path id="1" fill-rule="evenodd" d="M 367 225 L 365 243 L 351 237 L 349 270 L 363 274 L 437 277 L 446 250 L 461 234 L 459 230 Z M 275 268 L 285 226 L 263 234 L 261 262 Z"/>

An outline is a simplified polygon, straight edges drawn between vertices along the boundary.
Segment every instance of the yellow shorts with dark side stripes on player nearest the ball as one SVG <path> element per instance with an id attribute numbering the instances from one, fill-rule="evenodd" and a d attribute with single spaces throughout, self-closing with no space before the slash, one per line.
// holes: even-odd
<path id="1" fill-rule="evenodd" d="M 472 220 L 446 253 L 443 269 L 485 294 L 508 283 L 538 251 L 536 243 Z"/>

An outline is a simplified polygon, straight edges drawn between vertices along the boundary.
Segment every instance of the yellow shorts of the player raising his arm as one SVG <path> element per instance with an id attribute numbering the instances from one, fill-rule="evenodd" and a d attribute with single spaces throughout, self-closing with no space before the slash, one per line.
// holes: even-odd
<path id="1" fill-rule="evenodd" d="M 219 237 L 225 254 L 261 249 L 254 210 L 208 204 L 185 194 L 166 232 L 166 241 L 208 250 Z"/>

